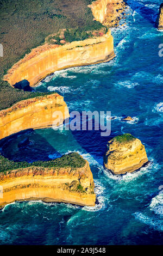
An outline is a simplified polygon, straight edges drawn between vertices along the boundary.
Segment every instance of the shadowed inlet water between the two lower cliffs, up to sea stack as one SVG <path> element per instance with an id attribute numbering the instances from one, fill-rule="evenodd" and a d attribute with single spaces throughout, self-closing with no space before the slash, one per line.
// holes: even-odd
<path id="1" fill-rule="evenodd" d="M 94 127 L 95 121 L 91 121 Z M 79 154 L 84 154 L 84 158 L 89 154 L 92 160 L 103 164 L 106 143 L 117 134 L 111 132 L 110 136 L 101 136 L 101 130 L 83 131 L 82 120 L 80 124 L 80 131 L 69 130 L 60 133 L 53 129 L 29 129 L 16 133 L 0 141 L 1 154 L 17 162 L 34 162 L 49 161 L 50 155 L 55 159 L 70 151 L 78 151 Z"/>

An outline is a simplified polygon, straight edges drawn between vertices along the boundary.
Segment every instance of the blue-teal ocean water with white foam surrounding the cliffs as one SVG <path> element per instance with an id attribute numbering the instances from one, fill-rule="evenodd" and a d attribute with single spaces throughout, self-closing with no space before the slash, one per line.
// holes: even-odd
<path id="1" fill-rule="evenodd" d="M 90 163 L 99 203 L 92 208 L 42 202 L 7 205 L 0 211 L 1 245 L 162 243 L 163 32 L 154 27 L 160 3 L 128 1 L 126 25 L 112 29 L 116 58 L 111 62 L 55 72 L 36 88 L 63 95 L 70 111 L 111 111 L 117 119 L 111 121 L 110 137 L 60 127 L 22 132 L 1 145 L 2 154 L 15 161 L 49 160 L 78 151 Z M 135 121 L 121 122 L 124 114 Z M 114 176 L 103 168 L 106 142 L 126 132 L 145 144 L 151 164 Z M 27 137 L 32 143 L 18 149 Z"/>

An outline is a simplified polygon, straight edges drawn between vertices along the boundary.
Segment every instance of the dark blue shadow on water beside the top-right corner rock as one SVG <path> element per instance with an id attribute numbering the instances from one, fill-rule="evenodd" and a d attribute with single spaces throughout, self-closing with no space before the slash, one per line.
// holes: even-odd
<path id="1" fill-rule="evenodd" d="M 139 13 L 143 18 L 145 18 L 152 24 L 155 24 L 155 20 L 156 20 L 158 13 L 155 13 L 154 10 L 147 7 L 143 3 L 138 3 L 137 1 L 134 1 L 134 0 L 126 0 L 126 3 L 129 5 L 129 7 L 132 10 L 136 11 L 136 13 Z"/>

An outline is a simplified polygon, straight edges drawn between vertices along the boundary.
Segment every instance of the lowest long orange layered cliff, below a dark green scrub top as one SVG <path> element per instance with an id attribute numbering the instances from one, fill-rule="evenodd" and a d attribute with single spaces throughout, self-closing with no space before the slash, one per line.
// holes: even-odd
<path id="1" fill-rule="evenodd" d="M 79 168 L 33 166 L 0 172 L 0 186 L 3 192 L 0 197 L 0 209 L 16 200 L 43 200 L 94 206 L 96 195 L 93 191 L 93 176 L 89 163 L 84 161 L 84 166 Z"/>

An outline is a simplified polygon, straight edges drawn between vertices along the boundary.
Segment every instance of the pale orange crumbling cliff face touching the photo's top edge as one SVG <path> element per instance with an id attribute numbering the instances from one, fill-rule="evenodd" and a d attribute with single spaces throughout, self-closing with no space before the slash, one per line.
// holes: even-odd
<path id="1" fill-rule="evenodd" d="M 123 0 L 97 0 L 93 1 L 89 7 L 92 10 L 95 20 L 103 23 L 109 14 L 111 19 L 114 19 L 114 9 L 118 10 L 122 8 L 122 2 Z"/>

